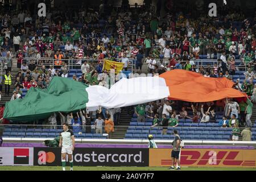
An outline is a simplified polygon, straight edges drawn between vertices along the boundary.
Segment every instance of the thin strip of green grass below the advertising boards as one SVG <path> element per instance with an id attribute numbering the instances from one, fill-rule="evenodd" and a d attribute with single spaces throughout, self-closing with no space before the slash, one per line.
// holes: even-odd
<path id="1" fill-rule="evenodd" d="M 0 166 L 0 171 L 61 171 L 60 166 Z M 168 171 L 168 167 L 85 167 L 74 166 L 74 171 Z M 69 167 L 66 167 L 69 170 Z M 182 171 L 256 171 L 256 168 L 181 167 Z"/>

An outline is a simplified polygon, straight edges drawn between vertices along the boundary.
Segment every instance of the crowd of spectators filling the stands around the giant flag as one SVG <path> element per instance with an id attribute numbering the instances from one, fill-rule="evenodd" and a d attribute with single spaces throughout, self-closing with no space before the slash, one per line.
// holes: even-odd
<path id="1" fill-rule="evenodd" d="M 103 60 L 108 59 L 125 63 L 125 71 L 131 60 L 136 60 L 137 71 L 142 71 L 143 63 L 147 63 L 148 72 L 153 75 L 185 69 L 205 77 L 233 80 L 236 71 L 244 71 L 245 80 L 241 84 L 237 79 L 234 88 L 247 93 L 256 102 L 256 86 L 253 84 L 256 71 L 255 19 L 246 18 L 237 9 L 228 9 L 216 18 L 209 18 L 192 16 L 185 10 L 159 16 L 159 13 L 154 14 L 144 6 L 128 7 L 117 10 L 101 5 L 98 11 L 80 9 L 72 14 L 58 9 L 47 12 L 46 18 L 31 16 L 27 10 L 3 11 L 0 14 L 0 54 L 6 70 L 1 83 L 1 86 L 5 85 L 5 94 L 9 95 L 11 84 L 15 85 L 11 100 L 22 98 L 22 89 L 30 89 L 31 86 L 47 88 L 54 76 L 69 76 L 70 60 L 82 72 L 80 77 L 73 75 L 73 80 L 109 87 L 109 72 L 103 69 Z M 11 75 L 13 57 L 18 61 L 17 75 Z M 217 62 L 204 68 L 195 64 L 198 59 L 214 59 Z M 237 59 L 242 60 L 239 66 Z M 95 61 L 89 64 L 88 60 Z M 11 77 L 15 77 L 14 83 L 10 81 Z M 116 77 L 115 82 L 118 80 Z M 251 127 L 250 118 L 246 119 L 246 114 L 242 114 L 248 108 L 247 114 L 250 114 L 250 101 L 239 105 L 234 102 L 237 112 L 233 111 L 232 101 L 226 105 L 224 101 L 217 101 L 219 105 L 216 102 L 177 104 L 179 102 L 152 102 L 135 110 L 138 117 L 144 113 L 142 118 L 146 115 L 153 118 L 154 126 L 164 114 L 164 117 L 170 118 L 169 126 L 176 126 L 178 116 L 191 118 L 193 122 L 216 121 L 214 113 L 222 107 L 219 111 L 226 111 L 224 123 L 220 126 L 230 127 L 236 121 L 237 126 L 247 123 L 246 126 Z M 177 108 L 166 113 L 166 105 Z M 186 114 L 187 109 L 193 115 Z M 120 109 L 111 112 L 112 120 L 118 125 Z M 110 111 L 103 113 L 101 118 L 96 116 L 96 112 L 90 113 L 90 118 L 98 119 L 96 123 L 100 126 L 101 119 L 106 118 L 106 113 Z M 55 123 L 56 116 L 52 117 L 49 122 Z M 239 122 L 236 118 L 240 118 Z"/>

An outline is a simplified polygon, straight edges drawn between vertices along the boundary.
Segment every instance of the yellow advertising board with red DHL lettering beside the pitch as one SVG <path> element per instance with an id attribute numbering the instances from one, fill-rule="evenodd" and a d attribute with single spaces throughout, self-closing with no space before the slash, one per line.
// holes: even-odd
<path id="1" fill-rule="evenodd" d="M 172 165 L 171 148 L 150 148 L 150 167 Z M 180 165 L 184 167 L 256 168 L 256 150 L 181 149 Z"/>

